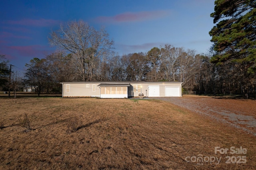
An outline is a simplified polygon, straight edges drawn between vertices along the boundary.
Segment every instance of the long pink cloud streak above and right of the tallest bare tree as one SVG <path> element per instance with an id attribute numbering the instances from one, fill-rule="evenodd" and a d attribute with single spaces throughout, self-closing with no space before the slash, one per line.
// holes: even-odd
<path id="1" fill-rule="evenodd" d="M 145 21 L 154 20 L 157 18 L 165 17 L 169 14 L 169 11 L 143 11 L 143 12 L 126 12 L 118 14 L 116 16 L 100 16 L 96 18 L 98 22 L 109 22 L 109 23 L 119 23 L 119 22 L 132 22 L 132 21 Z"/>

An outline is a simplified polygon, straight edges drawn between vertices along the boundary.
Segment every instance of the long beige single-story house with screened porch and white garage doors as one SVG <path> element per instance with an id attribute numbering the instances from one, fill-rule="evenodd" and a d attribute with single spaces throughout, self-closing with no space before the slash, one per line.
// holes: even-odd
<path id="1" fill-rule="evenodd" d="M 62 97 L 181 97 L 182 82 L 61 82 Z"/>

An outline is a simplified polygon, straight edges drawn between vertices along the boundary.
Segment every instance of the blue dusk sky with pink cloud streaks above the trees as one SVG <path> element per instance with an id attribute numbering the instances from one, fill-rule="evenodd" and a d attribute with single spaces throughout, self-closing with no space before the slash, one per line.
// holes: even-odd
<path id="1" fill-rule="evenodd" d="M 214 0 L 1 0 L 0 54 L 26 69 L 34 57 L 54 52 L 50 31 L 74 20 L 104 26 L 119 55 L 166 43 L 207 53 L 212 12 Z"/>

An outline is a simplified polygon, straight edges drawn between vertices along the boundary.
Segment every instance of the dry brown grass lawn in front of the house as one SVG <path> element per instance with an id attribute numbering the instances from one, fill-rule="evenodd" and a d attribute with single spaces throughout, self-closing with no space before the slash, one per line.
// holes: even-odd
<path id="1" fill-rule="evenodd" d="M 254 136 L 160 100 L 0 98 L 0 109 L 0 169 L 256 169 Z"/>

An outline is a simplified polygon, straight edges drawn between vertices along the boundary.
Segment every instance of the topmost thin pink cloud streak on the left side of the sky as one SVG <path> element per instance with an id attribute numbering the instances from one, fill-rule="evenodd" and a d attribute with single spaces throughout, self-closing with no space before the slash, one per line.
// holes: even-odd
<path id="1" fill-rule="evenodd" d="M 46 19 L 39 19 L 39 20 L 23 19 L 23 20 L 19 20 L 19 21 L 8 20 L 7 23 L 15 24 L 15 25 L 30 25 L 30 26 L 36 26 L 36 27 L 48 27 L 48 26 L 59 24 L 60 21 L 46 20 Z"/>

